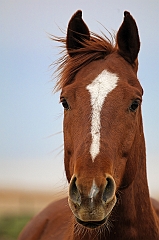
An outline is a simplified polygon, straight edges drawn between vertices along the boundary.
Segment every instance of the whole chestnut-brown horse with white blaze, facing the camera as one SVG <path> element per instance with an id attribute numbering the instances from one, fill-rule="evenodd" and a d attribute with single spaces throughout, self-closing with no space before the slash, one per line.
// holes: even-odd
<path id="1" fill-rule="evenodd" d="M 140 40 L 124 12 L 116 44 L 90 33 L 77 11 L 56 39 L 64 107 L 69 196 L 34 217 L 19 240 L 158 240 L 159 204 L 149 196 L 137 79 Z"/>

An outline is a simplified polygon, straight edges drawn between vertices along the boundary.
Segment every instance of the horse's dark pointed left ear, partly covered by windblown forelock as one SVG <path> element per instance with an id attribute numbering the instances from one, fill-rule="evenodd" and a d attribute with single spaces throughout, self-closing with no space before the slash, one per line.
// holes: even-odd
<path id="1" fill-rule="evenodd" d="M 75 51 L 83 47 L 82 42 L 90 39 L 90 32 L 82 19 L 82 11 L 78 10 L 71 18 L 67 28 L 66 47 L 68 54 L 73 57 Z"/>

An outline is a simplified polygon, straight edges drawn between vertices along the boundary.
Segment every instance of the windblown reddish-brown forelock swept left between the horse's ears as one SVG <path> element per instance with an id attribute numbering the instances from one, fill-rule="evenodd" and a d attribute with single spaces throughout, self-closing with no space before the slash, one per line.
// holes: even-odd
<path id="1" fill-rule="evenodd" d="M 57 65 L 58 80 L 55 85 L 55 91 L 61 90 L 63 87 L 71 84 L 76 73 L 92 61 L 104 59 L 105 56 L 115 51 L 112 40 L 109 40 L 104 34 L 103 36 L 91 33 L 90 40 L 82 42 L 82 48 L 72 50 L 74 54 L 70 57 L 66 49 L 66 39 L 60 37 L 51 37 L 52 40 L 62 43 L 64 50 L 61 52 L 62 56 L 54 63 Z M 78 54 L 77 54 L 78 53 Z"/>

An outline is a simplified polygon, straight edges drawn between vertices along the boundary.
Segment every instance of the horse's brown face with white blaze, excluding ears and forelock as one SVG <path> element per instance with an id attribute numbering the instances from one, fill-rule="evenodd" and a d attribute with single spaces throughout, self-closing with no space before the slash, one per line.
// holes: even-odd
<path id="1" fill-rule="evenodd" d="M 142 88 L 136 57 L 130 64 L 117 44 L 118 51 L 83 67 L 61 92 L 69 205 L 90 228 L 105 223 L 117 190 L 132 183 L 137 168 L 129 154 L 140 134 Z"/>

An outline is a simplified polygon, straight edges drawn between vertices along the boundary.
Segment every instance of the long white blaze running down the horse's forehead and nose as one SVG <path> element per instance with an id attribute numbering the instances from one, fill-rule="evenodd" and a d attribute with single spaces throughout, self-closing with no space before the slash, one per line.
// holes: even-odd
<path id="1" fill-rule="evenodd" d="M 99 153 L 100 150 L 100 113 L 104 100 L 117 86 L 118 77 L 114 73 L 110 73 L 107 70 L 103 70 L 86 89 L 90 93 L 91 106 L 92 106 L 92 121 L 91 121 L 91 135 L 92 144 L 90 147 L 90 154 L 92 161 Z"/>

